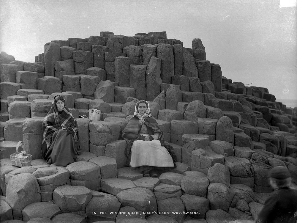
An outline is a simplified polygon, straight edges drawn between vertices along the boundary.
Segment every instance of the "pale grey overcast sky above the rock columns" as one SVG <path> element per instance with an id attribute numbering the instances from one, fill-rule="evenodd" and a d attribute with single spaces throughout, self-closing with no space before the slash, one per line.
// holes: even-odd
<path id="1" fill-rule="evenodd" d="M 187 48 L 200 38 L 226 78 L 297 101 L 296 12 L 296 0 L 0 0 L 0 51 L 34 62 L 51 40 L 166 31 Z"/>

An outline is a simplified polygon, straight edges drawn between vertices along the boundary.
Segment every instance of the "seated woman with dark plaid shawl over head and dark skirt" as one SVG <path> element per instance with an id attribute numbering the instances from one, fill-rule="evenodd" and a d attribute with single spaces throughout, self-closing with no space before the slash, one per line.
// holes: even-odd
<path id="1" fill-rule="evenodd" d="M 66 108 L 65 99 L 57 95 L 42 122 L 42 157 L 48 164 L 67 166 L 80 154 L 77 123 Z"/>

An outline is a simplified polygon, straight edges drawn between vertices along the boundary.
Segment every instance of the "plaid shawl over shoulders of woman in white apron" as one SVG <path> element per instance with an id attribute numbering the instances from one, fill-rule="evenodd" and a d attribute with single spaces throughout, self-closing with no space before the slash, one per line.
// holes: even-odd
<path id="1" fill-rule="evenodd" d="M 144 121 L 145 122 L 143 123 L 143 125 L 146 125 L 149 135 L 160 133 L 158 138 L 160 140 L 162 138 L 163 131 L 160 129 L 154 117 L 146 117 Z M 129 123 L 124 128 L 122 138 L 125 140 L 135 141 L 140 137 L 140 134 L 139 134 L 140 129 L 141 129 L 141 124 L 139 123 L 139 118 L 137 116 L 134 116 L 130 119 Z"/>

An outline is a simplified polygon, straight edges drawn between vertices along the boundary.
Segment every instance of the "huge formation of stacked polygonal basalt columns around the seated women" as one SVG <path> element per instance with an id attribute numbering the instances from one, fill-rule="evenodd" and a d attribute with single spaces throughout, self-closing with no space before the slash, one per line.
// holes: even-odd
<path id="1" fill-rule="evenodd" d="M 269 169 L 285 166 L 297 183 L 297 108 L 222 76 L 200 39 L 184 48 L 166 32 L 100 32 L 46 43 L 35 63 L 4 52 L 0 63 L 1 221 L 253 222 L 272 191 Z M 83 150 L 66 168 L 40 155 L 42 119 L 57 94 Z M 156 178 L 124 156 L 121 131 L 141 99 L 177 156 Z M 89 109 L 102 121 L 79 118 Z M 11 165 L 18 141 L 30 167 Z"/>

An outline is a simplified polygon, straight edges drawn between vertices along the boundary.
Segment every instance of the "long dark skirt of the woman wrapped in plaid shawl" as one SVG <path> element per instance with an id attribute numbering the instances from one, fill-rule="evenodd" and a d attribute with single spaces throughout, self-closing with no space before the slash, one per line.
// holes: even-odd
<path id="1" fill-rule="evenodd" d="M 48 164 L 66 167 L 75 162 L 80 153 L 79 141 L 75 141 L 71 134 L 67 135 L 67 131 L 61 129 L 53 133 L 52 144 L 45 154 L 45 161 Z"/>

